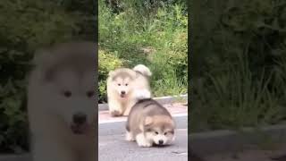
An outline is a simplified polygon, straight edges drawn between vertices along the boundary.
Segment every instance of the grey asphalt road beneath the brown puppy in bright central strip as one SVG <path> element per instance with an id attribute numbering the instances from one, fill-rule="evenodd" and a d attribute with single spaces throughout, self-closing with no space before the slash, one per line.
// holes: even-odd
<path id="1" fill-rule="evenodd" d="M 176 131 L 172 146 L 139 148 L 135 142 L 124 140 L 124 134 L 99 135 L 98 158 L 103 161 L 187 161 L 187 129 Z"/>

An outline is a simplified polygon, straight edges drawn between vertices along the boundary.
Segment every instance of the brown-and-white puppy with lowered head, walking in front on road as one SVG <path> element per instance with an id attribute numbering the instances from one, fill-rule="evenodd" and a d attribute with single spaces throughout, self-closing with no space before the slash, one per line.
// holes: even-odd
<path id="1" fill-rule="evenodd" d="M 154 99 L 141 99 L 130 111 L 126 140 L 136 140 L 139 147 L 168 145 L 174 140 L 172 115 Z"/>

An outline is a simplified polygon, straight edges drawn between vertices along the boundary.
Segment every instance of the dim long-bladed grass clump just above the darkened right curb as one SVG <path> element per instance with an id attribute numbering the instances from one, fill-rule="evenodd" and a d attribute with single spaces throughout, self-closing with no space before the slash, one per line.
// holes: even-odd
<path id="1" fill-rule="evenodd" d="M 247 55 L 238 57 L 238 64 L 229 64 L 225 71 L 197 80 L 190 124 L 193 131 L 239 129 L 279 123 L 285 118 L 281 97 L 273 86 L 273 73 L 263 72 L 254 79 Z M 277 84 L 276 84 L 277 85 Z M 285 84 L 279 87 L 285 87 Z"/>

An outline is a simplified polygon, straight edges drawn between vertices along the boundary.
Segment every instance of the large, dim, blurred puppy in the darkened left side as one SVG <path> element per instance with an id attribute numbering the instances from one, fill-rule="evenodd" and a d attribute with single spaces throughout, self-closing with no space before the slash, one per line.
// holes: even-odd
<path id="1" fill-rule="evenodd" d="M 33 161 L 97 159 L 96 50 L 67 43 L 36 55 L 28 88 Z"/>

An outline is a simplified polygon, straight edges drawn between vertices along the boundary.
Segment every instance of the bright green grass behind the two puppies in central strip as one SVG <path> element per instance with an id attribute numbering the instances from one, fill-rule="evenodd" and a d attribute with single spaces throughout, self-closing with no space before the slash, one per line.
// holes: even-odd
<path id="1" fill-rule="evenodd" d="M 151 88 L 155 97 L 186 94 L 188 15 L 185 5 L 158 4 L 142 9 L 135 2 L 122 1 L 125 6 L 122 12 L 112 13 L 103 0 L 99 1 L 100 49 L 116 53 L 124 62 L 122 66 L 147 65 L 153 72 Z"/>

